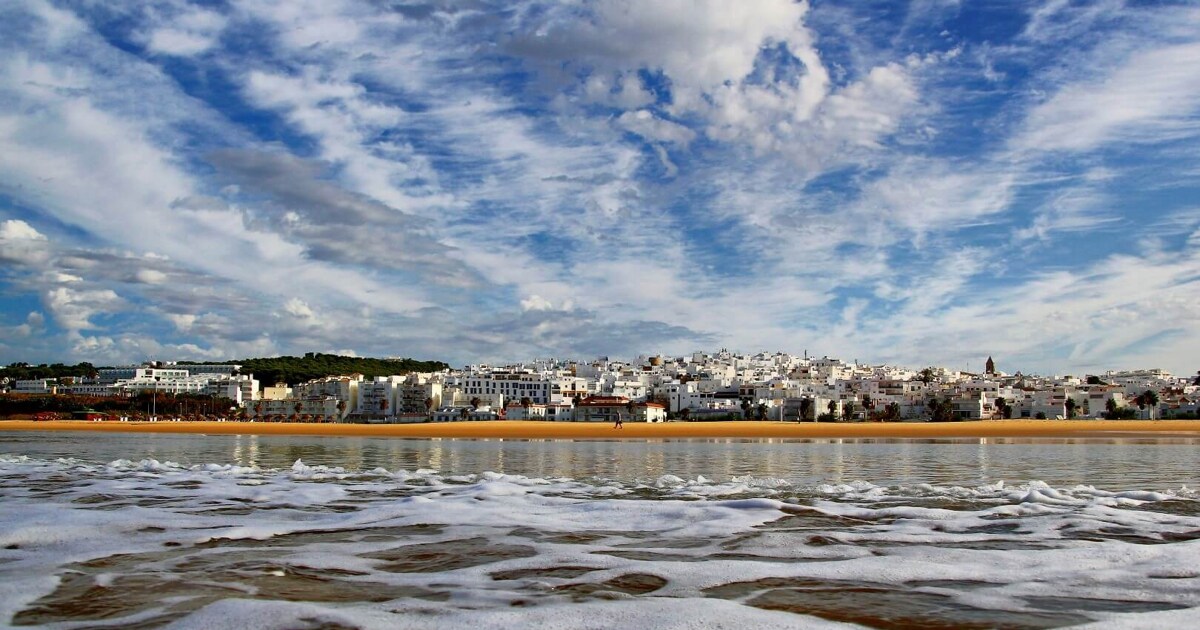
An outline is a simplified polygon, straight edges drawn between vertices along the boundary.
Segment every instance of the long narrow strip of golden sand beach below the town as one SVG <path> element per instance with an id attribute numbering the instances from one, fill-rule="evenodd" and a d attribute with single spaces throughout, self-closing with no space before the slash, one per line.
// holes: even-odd
<path id="1" fill-rule="evenodd" d="M 989 437 L 1200 437 L 1196 420 L 985 420 L 973 422 L 599 422 L 497 420 L 414 425 L 293 422 L 0 421 L 0 431 L 115 431 L 401 438 L 686 439 L 686 438 L 989 438 Z"/>

